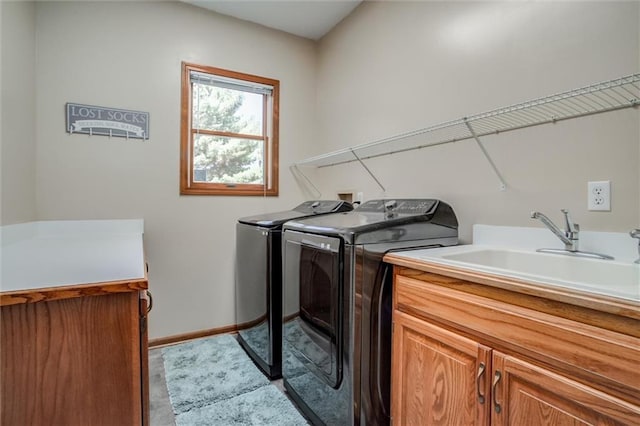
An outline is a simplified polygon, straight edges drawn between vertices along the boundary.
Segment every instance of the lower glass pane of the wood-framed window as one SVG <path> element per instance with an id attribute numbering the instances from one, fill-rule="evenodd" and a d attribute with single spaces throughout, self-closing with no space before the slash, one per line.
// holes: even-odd
<path id="1" fill-rule="evenodd" d="M 213 183 L 264 183 L 264 142 L 195 134 L 193 180 Z"/>

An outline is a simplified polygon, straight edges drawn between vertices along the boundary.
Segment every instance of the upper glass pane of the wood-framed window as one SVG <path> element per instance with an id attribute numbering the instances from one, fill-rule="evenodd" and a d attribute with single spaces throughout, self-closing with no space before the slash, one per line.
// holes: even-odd
<path id="1" fill-rule="evenodd" d="M 193 84 L 193 128 L 262 136 L 264 95 Z"/>

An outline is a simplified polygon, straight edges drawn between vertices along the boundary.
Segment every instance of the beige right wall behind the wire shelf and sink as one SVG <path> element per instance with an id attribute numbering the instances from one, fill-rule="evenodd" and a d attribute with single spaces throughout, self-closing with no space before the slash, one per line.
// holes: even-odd
<path id="1" fill-rule="evenodd" d="M 637 73 L 637 2 L 364 2 L 319 45 L 314 154 Z M 585 230 L 640 225 L 638 109 L 319 169 L 325 196 L 436 197 L 474 223 L 541 226 L 568 208 Z M 611 180 L 612 211 L 587 211 L 587 181 Z"/>

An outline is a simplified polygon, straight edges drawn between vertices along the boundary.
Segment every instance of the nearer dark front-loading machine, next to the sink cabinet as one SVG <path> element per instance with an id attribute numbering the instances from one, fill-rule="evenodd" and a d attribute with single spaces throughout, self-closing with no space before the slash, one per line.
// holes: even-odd
<path id="1" fill-rule="evenodd" d="M 285 389 L 315 425 L 387 425 L 391 390 L 390 251 L 458 244 L 435 199 L 372 200 L 283 227 Z"/>

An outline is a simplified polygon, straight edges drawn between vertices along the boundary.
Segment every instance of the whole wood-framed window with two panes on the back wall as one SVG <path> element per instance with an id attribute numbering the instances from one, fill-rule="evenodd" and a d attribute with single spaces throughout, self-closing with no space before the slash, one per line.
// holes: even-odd
<path id="1" fill-rule="evenodd" d="M 182 63 L 181 194 L 278 195 L 279 87 Z"/>

